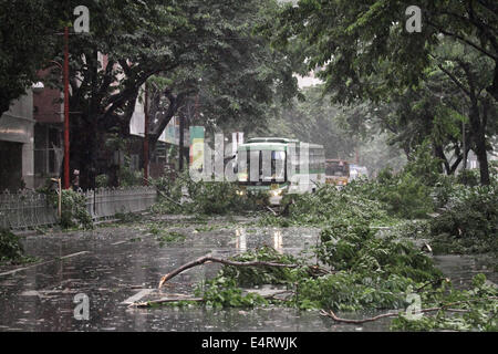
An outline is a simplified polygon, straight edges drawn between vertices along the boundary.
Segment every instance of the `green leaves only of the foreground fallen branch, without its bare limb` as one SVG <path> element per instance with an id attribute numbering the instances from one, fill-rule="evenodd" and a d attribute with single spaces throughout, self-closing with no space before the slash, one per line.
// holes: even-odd
<path id="1" fill-rule="evenodd" d="M 293 295 L 286 302 L 274 302 L 277 304 L 284 303 L 303 310 L 392 309 L 405 305 L 407 290 L 419 285 L 422 281 L 440 277 L 432 261 L 412 243 L 376 239 L 361 226 L 350 233 L 356 238 L 344 236 L 341 238 L 342 244 L 335 248 L 329 243 L 331 231 L 322 232 L 322 246 L 315 251 L 324 264 L 335 269 L 330 274 L 313 275 L 304 258 L 281 254 L 270 247 L 262 247 L 238 254 L 232 260 L 271 261 L 295 267 L 225 266 L 215 279 L 207 282 L 208 287 L 198 288 L 197 295 L 208 296 L 224 306 L 230 303 L 227 296 L 234 296 L 235 303 L 241 305 L 240 288 L 280 284 L 292 290 Z M 355 249 L 353 242 L 361 246 Z M 252 306 L 252 298 L 248 301 Z M 268 301 L 273 303 L 273 300 Z"/>

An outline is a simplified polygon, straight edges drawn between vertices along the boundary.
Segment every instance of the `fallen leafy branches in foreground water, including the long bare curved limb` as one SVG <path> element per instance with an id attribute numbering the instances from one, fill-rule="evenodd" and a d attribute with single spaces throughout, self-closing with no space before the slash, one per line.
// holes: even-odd
<path id="1" fill-rule="evenodd" d="M 473 290 L 454 290 L 433 261 L 411 242 L 376 236 L 360 222 L 324 229 L 314 251 L 320 267 L 267 246 L 228 260 L 204 257 L 172 271 L 159 285 L 187 269 L 217 262 L 224 267 L 214 279 L 197 287 L 196 299 L 203 299 L 197 304 L 216 308 L 273 304 L 323 310 L 322 314 L 332 314 L 334 321 L 345 320 L 334 311 L 398 309 L 364 322 L 396 316 L 393 329 L 397 330 L 456 329 L 455 323 L 463 329 L 496 327 L 496 288 L 479 275 Z M 253 292 L 267 284 L 284 287 L 286 300 Z M 416 322 L 402 317 L 411 305 L 409 294 L 421 296 L 424 317 Z M 180 305 L 181 300 L 168 304 Z"/>

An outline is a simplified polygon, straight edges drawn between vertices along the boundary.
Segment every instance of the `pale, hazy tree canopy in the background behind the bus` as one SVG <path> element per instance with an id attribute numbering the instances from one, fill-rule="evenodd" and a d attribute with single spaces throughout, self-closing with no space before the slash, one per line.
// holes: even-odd
<path id="1" fill-rule="evenodd" d="M 396 135 L 388 129 L 382 133 L 381 116 L 381 110 L 375 111 L 369 102 L 354 106 L 332 104 L 322 86 L 315 85 L 303 88 L 301 100 L 276 110 L 274 116 L 252 134 L 321 144 L 326 158 L 356 162 L 366 166 L 372 176 L 385 167 L 400 170 L 406 163 L 403 150 L 390 140 Z"/>

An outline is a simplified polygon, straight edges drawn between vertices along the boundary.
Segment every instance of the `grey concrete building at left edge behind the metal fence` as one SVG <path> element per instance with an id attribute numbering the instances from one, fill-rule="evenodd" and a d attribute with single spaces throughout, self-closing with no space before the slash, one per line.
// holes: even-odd
<path id="1" fill-rule="evenodd" d="M 39 73 L 43 77 L 46 71 Z M 0 117 L 0 191 L 34 189 L 58 177 L 63 158 L 59 90 L 34 86 Z"/>

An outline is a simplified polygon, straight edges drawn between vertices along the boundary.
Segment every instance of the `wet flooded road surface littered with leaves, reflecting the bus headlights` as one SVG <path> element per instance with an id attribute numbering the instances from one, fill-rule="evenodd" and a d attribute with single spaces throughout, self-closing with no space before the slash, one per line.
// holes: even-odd
<path id="1" fill-rule="evenodd" d="M 164 233 L 151 228 L 151 222 Z M 129 303 L 191 294 L 201 280 L 216 274 L 218 264 L 193 268 L 157 290 L 162 275 L 198 257 L 226 258 L 268 244 L 299 254 L 317 244 L 319 229 L 261 228 L 253 219 L 196 220 L 164 217 L 149 223 L 100 227 L 93 231 L 33 235 L 23 239 L 25 251 L 39 261 L 0 269 L 0 331 L 386 331 L 390 320 L 364 325 L 335 324 L 318 311 L 282 308 L 214 310 L 129 308 Z M 469 257 L 436 257 L 452 279 L 475 272 L 496 273 Z M 460 282 L 460 280 L 458 280 Z M 89 319 L 76 320 L 76 294 L 89 299 Z M 369 313 L 347 314 L 360 319 Z"/>

